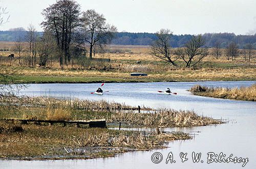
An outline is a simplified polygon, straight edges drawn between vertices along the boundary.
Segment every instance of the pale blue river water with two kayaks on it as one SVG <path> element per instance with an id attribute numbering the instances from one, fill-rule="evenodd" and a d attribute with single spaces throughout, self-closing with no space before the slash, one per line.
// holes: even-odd
<path id="1" fill-rule="evenodd" d="M 228 119 L 229 123 L 201 127 L 166 128 L 165 131 L 184 131 L 195 134 L 190 140 L 176 140 L 169 148 L 153 151 L 129 152 L 111 158 L 90 160 L 47 160 L 12 161 L 0 160 L 0 168 L 243 168 L 243 163 L 207 164 L 207 153 L 223 152 L 228 157 L 248 158 L 244 168 L 256 166 L 256 103 L 216 99 L 191 95 L 186 90 L 195 84 L 214 87 L 249 86 L 256 81 L 207 81 L 207 82 L 154 82 L 154 83 L 105 83 L 102 87 L 110 91 L 102 96 L 90 94 L 101 84 L 36 84 L 29 85 L 20 95 L 47 95 L 54 97 L 80 98 L 90 100 L 109 100 L 124 102 L 128 105 L 145 105 L 153 108 L 194 109 L 198 114 L 213 118 Z M 177 96 L 157 93 L 167 87 Z M 200 132 L 198 132 L 200 131 Z M 151 156 L 155 152 L 163 155 L 163 160 L 155 164 Z M 165 163 L 169 152 L 176 163 Z M 181 162 L 180 152 L 188 153 L 188 160 Z M 194 163 L 192 152 L 202 153 L 203 163 Z"/>

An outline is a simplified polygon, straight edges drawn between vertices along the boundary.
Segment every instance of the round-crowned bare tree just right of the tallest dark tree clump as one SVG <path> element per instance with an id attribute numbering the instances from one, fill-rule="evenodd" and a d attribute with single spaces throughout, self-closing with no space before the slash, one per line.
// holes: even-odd
<path id="1" fill-rule="evenodd" d="M 90 59 L 92 59 L 94 46 L 102 48 L 104 44 L 110 43 L 117 29 L 106 23 L 104 16 L 95 10 L 83 12 L 81 20 L 84 41 L 90 45 Z"/>

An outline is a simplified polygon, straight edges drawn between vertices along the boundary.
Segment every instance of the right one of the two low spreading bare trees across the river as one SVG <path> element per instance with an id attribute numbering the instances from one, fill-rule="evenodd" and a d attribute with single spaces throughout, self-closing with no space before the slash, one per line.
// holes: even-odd
<path id="1" fill-rule="evenodd" d="M 193 67 L 208 56 L 208 49 L 203 48 L 204 45 L 205 40 L 201 35 L 192 36 L 184 48 L 176 50 L 176 54 L 186 63 L 187 68 Z"/>

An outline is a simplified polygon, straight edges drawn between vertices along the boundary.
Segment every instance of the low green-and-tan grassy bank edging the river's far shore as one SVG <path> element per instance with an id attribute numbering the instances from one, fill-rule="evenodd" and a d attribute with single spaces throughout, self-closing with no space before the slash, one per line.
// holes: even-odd
<path id="1" fill-rule="evenodd" d="M 12 75 L 13 83 L 96 83 L 96 82 L 159 82 L 159 81 L 250 81 L 256 80 L 255 68 L 202 68 L 149 71 L 147 76 L 131 76 L 127 71 L 43 69 L 2 66 Z M 4 83 L 4 77 L 0 82 Z"/>

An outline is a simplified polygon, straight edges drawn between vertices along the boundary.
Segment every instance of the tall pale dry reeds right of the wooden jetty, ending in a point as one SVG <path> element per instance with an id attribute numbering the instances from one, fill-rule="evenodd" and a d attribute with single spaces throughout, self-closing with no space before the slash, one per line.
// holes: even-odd
<path id="1" fill-rule="evenodd" d="M 154 127 L 189 127 L 222 123 L 220 120 L 198 116 L 193 110 L 174 109 L 159 109 L 146 114 L 116 112 L 107 120 Z"/>

